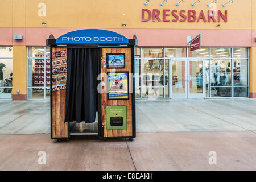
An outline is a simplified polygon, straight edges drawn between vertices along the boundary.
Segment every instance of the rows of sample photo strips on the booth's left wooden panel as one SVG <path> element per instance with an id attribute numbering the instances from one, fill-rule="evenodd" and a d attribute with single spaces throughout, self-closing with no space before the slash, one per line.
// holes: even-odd
<path id="1" fill-rule="evenodd" d="M 67 49 L 52 51 L 52 91 L 66 89 Z"/>

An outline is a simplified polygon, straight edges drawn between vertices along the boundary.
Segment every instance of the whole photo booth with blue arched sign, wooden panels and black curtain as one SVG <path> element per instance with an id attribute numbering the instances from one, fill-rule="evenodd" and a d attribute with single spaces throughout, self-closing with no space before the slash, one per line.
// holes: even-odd
<path id="1" fill-rule="evenodd" d="M 86 29 L 57 39 L 50 35 L 46 42 L 51 47 L 51 139 L 94 133 L 100 139 L 133 140 L 138 40 Z M 93 123 L 96 133 L 86 131 Z"/>

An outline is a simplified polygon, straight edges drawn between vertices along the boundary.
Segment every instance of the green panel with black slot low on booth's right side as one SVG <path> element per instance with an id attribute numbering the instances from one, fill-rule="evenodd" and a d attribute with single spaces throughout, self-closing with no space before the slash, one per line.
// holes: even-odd
<path id="1" fill-rule="evenodd" d="M 126 106 L 106 106 L 107 130 L 126 130 Z"/>

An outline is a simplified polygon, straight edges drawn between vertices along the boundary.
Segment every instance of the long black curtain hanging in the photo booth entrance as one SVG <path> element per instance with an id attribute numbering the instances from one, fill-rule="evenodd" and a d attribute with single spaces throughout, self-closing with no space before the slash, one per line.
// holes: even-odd
<path id="1" fill-rule="evenodd" d="M 95 122 L 98 49 L 68 48 L 65 122 Z"/>

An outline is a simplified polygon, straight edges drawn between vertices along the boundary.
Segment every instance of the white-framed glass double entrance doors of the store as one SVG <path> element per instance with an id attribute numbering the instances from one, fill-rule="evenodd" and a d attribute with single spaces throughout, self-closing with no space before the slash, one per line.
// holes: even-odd
<path id="1" fill-rule="evenodd" d="M 172 98 L 205 98 L 204 59 L 171 59 Z"/>

